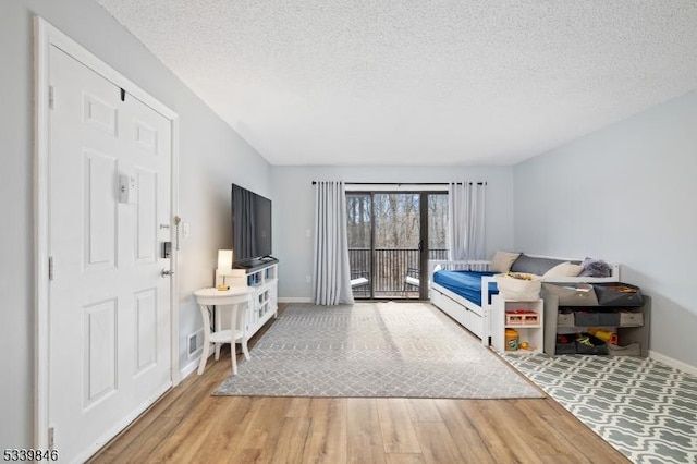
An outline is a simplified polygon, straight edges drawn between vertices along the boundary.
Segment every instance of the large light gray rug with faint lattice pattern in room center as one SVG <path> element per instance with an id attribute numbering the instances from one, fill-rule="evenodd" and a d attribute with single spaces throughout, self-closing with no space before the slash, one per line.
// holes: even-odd
<path id="1" fill-rule="evenodd" d="M 289 305 L 215 394 L 543 398 L 428 303 Z"/>

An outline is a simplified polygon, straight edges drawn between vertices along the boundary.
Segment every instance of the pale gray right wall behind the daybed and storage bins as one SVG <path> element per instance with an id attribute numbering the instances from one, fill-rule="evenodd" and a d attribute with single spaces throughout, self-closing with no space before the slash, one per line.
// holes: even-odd
<path id="1" fill-rule="evenodd" d="M 620 262 L 652 296 L 650 349 L 697 366 L 697 91 L 514 169 L 515 246 Z"/>

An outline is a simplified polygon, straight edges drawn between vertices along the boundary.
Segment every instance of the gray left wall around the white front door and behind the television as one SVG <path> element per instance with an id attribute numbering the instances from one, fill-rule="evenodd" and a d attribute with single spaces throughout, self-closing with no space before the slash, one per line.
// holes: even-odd
<path id="1" fill-rule="evenodd" d="M 212 284 L 216 251 L 230 246 L 230 184 L 270 195 L 270 168 L 235 132 L 93 0 L 0 2 L 0 448 L 33 444 L 34 72 L 33 15 L 39 14 L 180 114 L 181 350 L 200 327 L 193 290 Z"/>

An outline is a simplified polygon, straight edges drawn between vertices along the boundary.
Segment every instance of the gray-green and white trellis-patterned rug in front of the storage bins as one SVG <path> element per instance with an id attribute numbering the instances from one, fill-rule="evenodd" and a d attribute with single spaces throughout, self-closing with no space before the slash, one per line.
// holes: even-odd
<path id="1" fill-rule="evenodd" d="M 697 377 L 629 356 L 504 358 L 635 463 L 697 463 Z"/>

